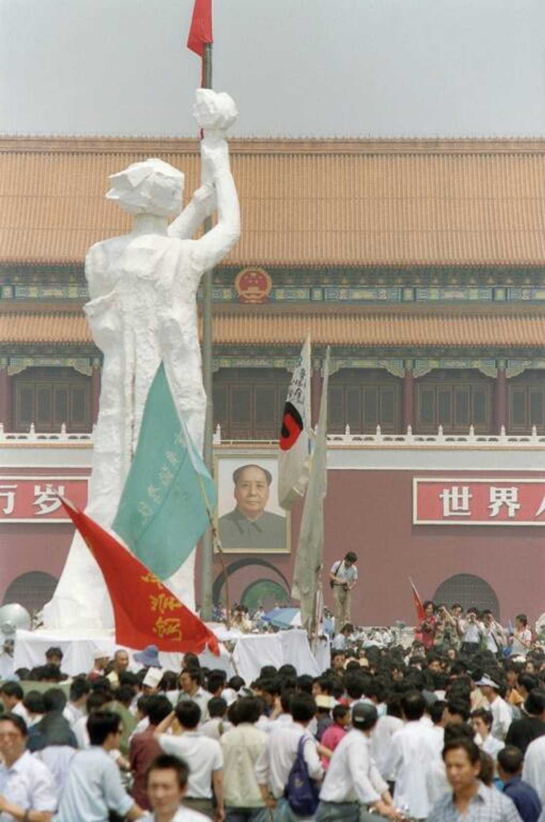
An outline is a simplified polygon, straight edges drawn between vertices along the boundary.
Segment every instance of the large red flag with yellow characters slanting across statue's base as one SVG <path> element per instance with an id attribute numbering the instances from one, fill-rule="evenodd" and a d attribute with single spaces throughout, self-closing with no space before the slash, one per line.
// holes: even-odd
<path id="1" fill-rule="evenodd" d="M 203 653 L 208 645 L 219 656 L 218 637 L 199 617 L 111 533 L 71 501 L 60 499 L 103 572 L 112 600 L 117 644 L 136 649 L 154 644 L 170 653 Z"/>

